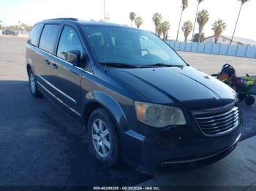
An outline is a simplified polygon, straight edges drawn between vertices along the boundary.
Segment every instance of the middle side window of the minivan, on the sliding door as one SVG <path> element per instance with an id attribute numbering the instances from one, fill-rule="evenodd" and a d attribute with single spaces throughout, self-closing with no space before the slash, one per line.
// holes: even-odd
<path id="1" fill-rule="evenodd" d="M 59 25 L 45 25 L 39 43 L 40 49 L 53 54 L 59 28 Z"/>

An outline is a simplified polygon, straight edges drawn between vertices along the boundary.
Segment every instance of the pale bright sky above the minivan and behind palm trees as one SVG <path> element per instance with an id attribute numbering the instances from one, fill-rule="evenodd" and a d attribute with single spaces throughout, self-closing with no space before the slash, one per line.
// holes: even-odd
<path id="1" fill-rule="evenodd" d="M 103 19 L 103 0 L 2 0 L 0 3 L 0 20 L 5 25 L 22 23 L 33 25 L 39 20 L 50 17 L 78 17 L 80 20 Z M 169 36 L 176 38 L 178 19 L 180 16 L 181 0 L 105 0 L 106 12 L 110 15 L 111 23 L 130 24 L 129 12 L 134 11 L 143 17 L 141 28 L 154 31 L 151 17 L 154 12 L 162 14 L 164 20 L 171 24 Z M 200 9 L 208 9 L 210 20 L 205 26 L 206 36 L 211 36 L 211 25 L 219 18 L 227 23 L 225 35 L 232 35 L 236 17 L 240 8 L 238 0 L 205 0 Z M 184 11 L 181 23 L 191 20 L 194 23 L 197 0 L 189 0 L 189 7 Z M 249 0 L 241 12 L 236 36 L 256 40 L 256 1 Z M 196 26 L 195 31 L 197 32 Z M 180 32 L 180 40 L 184 39 Z"/>

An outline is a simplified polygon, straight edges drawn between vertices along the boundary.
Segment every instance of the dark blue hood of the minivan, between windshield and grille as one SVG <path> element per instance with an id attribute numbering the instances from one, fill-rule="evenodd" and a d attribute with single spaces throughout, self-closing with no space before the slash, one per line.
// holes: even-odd
<path id="1" fill-rule="evenodd" d="M 236 101 L 236 92 L 191 66 L 110 69 L 110 75 L 158 104 L 182 104 L 190 110 L 223 106 Z"/>

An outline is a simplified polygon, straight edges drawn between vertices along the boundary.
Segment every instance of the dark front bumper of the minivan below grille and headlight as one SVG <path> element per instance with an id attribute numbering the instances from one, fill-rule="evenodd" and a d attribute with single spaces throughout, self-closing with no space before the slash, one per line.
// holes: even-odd
<path id="1" fill-rule="evenodd" d="M 151 136 L 129 130 L 124 136 L 124 161 L 141 171 L 154 173 L 165 165 L 193 163 L 214 157 L 220 160 L 236 147 L 241 136 L 241 125 L 233 132 L 217 137 L 198 135 L 198 132 L 192 134 L 186 128 L 174 132 L 154 132 Z M 169 133 L 175 136 L 170 137 Z"/>

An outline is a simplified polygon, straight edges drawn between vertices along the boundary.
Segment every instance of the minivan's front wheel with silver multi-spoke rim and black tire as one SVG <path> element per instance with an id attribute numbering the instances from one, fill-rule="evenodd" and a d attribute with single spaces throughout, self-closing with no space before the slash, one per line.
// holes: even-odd
<path id="1" fill-rule="evenodd" d="M 121 159 L 118 133 L 112 117 L 105 109 L 95 109 L 91 113 L 88 132 L 90 149 L 97 160 L 108 166 L 116 165 Z"/>

